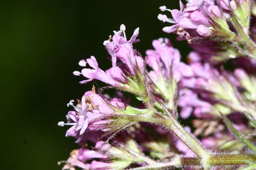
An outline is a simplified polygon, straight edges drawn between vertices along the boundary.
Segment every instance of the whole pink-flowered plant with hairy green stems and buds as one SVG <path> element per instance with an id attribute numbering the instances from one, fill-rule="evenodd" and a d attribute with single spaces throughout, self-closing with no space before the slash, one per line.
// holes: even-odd
<path id="1" fill-rule="evenodd" d="M 73 110 L 58 125 L 71 126 L 66 136 L 79 148 L 59 162 L 63 170 L 256 169 L 253 3 L 187 0 L 180 10 L 160 7 L 173 16 L 158 15 L 174 24 L 165 32 L 207 40 L 192 44 L 187 62 L 167 38 L 154 40 L 143 57 L 133 47 L 139 28 L 128 40 L 123 24 L 103 42 L 111 68 L 102 70 L 94 56 L 80 60 L 82 71 L 73 74 L 86 78 L 81 84 L 95 79 L 118 92 L 112 97 L 93 86 L 67 104 Z"/>

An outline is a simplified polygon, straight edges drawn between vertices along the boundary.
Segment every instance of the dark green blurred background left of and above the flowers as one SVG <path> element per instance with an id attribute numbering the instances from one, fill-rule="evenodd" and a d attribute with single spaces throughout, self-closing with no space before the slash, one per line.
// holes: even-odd
<path id="1" fill-rule="evenodd" d="M 78 61 L 94 55 L 109 68 L 102 43 L 125 24 L 130 37 L 140 27 L 135 48 L 143 55 L 151 42 L 168 37 L 183 58 L 186 42 L 165 34 L 157 20 L 161 5 L 179 8 L 179 0 L 17 0 L 1 3 L 1 169 L 61 170 L 77 147 L 66 138 L 68 127 L 58 127 L 71 108 L 66 103 L 82 97 L 92 83 L 80 85 Z M 163 13 L 163 12 L 162 12 Z M 171 17 L 168 12 L 165 13 Z"/>

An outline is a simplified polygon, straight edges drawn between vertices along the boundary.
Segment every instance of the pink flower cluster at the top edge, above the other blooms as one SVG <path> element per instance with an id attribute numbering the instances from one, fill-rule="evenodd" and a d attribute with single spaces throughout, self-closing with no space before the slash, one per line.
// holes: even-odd
<path id="1" fill-rule="evenodd" d="M 212 20 L 216 17 L 222 17 L 218 6 L 214 5 L 214 0 L 187 0 L 186 8 L 183 9 L 183 4 L 180 1 L 180 10 L 167 9 L 165 6 L 160 7 L 162 11 L 170 11 L 173 19 L 166 15 L 159 14 L 158 19 L 163 22 L 174 24 L 163 28 L 166 33 L 176 32 L 181 37 L 185 34 L 186 39 L 190 38 L 189 34 L 194 34 L 194 30 L 201 36 L 210 36 L 210 26 L 214 24 Z M 213 29 L 213 27 L 211 27 Z M 184 30 L 185 29 L 185 30 Z"/>

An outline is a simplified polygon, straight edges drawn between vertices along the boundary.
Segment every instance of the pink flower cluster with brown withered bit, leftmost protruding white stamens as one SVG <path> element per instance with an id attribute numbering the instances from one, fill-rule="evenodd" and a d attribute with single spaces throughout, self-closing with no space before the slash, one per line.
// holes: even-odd
<path id="1" fill-rule="evenodd" d="M 73 105 L 73 100 L 70 101 L 67 105 L 72 106 L 75 111 L 69 111 L 67 115 L 67 122 L 59 122 L 59 126 L 71 125 L 67 132 L 66 136 L 75 137 L 76 143 L 85 142 L 86 139 L 90 136 L 86 136 L 85 134 L 90 133 L 90 131 L 99 129 L 106 125 L 102 125 L 102 123 L 108 123 L 108 120 L 102 120 L 101 117 L 104 115 L 109 115 L 113 113 L 113 110 L 106 103 L 106 99 L 103 100 L 102 97 L 92 91 L 86 92 L 82 96 L 81 104 L 77 106 Z M 118 99 L 112 99 L 109 101 L 119 109 L 124 109 L 125 105 Z M 106 131 L 106 129 L 105 129 Z M 97 133 L 94 132 L 97 136 Z M 94 136 L 92 137 L 92 141 L 94 140 Z"/>

